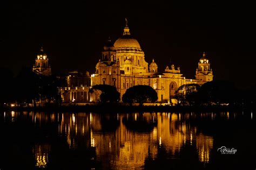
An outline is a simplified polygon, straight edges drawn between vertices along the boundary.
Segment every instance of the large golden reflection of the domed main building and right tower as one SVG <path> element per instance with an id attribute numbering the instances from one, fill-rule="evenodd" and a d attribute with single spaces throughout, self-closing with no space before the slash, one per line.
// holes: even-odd
<path id="1" fill-rule="evenodd" d="M 210 151 L 212 149 L 213 138 L 196 135 L 197 128 L 191 127 L 183 121 L 189 118 L 190 114 L 133 114 L 120 115 L 120 125 L 117 130 L 111 133 L 95 133 L 94 139 L 96 145 L 97 159 L 105 160 L 105 157 L 111 161 L 114 168 L 136 168 L 144 165 L 147 155 L 152 159 L 157 156 L 158 146 L 164 145 L 166 152 L 171 152 L 173 157 L 179 154 L 181 147 L 186 143 L 194 143 L 199 150 L 199 161 L 208 162 Z M 128 124 L 124 124 L 124 119 L 130 123 L 136 124 L 137 121 L 143 120 L 157 122 L 149 132 L 137 132 Z M 139 130 L 139 129 L 137 129 Z M 177 154 L 174 154 L 177 153 Z M 203 154 L 204 159 L 201 159 Z M 111 157 L 111 158 L 110 158 Z M 207 158 L 207 159 L 206 159 Z"/>

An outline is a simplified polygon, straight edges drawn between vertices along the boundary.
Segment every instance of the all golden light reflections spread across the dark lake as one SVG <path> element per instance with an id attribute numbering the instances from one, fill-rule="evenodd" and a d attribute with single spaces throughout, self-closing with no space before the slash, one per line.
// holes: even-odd
<path id="1" fill-rule="evenodd" d="M 29 119 L 41 127 L 57 124 L 57 136 L 64 137 L 69 150 L 80 147 L 95 148 L 95 158 L 103 169 L 143 168 L 146 160 L 155 160 L 159 150 L 164 148 L 169 159 L 181 159 L 181 151 L 186 145 L 196 148 L 197 160 L 202 163 L 211 161 L 213 134 L 199 130 L 194 120 L 239 119 L 244 116 L 230 112 L 195 114 L 171 112 L 143 112 L 133 114 L 93 114 L 93 113 L 57 113 L 4 112 L 4 122 Z M 252 112 L 251 112 L 251 119 Z M 54 131 L 54 130 L 53 130 Z M 39 141 L 32 147 L 36 167 L 47 167 L 51 144 Z M 186 146 L 187 147 L 187 146 Z M 86 154 L 86 153 L 85 153 Z"/>

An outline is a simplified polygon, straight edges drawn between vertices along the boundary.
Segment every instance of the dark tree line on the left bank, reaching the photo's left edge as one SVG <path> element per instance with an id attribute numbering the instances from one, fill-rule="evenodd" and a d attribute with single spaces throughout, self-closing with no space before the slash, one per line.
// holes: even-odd
<path id="1" fill-rule="evenodd" d="M 17 76 L 6 68 L 0 68 L 2 82 L 0 88 L 2 95 L 0 104 L 2 107 L 15 103 L 19 106 L 32 104 L 36 106 L 38 101 L 45 105 L 60 105 L 60 87 L 65 81 L 57 76 L 42 76 L 32 72 L 31 68 L 23 67 Z"/>

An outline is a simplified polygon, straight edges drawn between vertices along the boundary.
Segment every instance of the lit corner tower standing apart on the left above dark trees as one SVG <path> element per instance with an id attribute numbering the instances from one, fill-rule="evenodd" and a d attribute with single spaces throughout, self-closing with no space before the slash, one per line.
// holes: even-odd
<path id="1" fill-rule="evenodd" d="M 33 65 L 33 72 L 44 76 L 51 75 L 51 66 L 49 65 L 49 60 L 44 53 L 43 47 L 41 47 L 37 54 L 36 63 Z"/>

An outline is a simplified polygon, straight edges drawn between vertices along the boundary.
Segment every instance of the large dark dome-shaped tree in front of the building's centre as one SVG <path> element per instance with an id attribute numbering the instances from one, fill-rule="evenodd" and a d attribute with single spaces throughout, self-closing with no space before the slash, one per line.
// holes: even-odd
<path id="1" fill-rule="evenodd" d="M 146 85 L 130 87 L 122 97 L 124 103 L 139 103 L 140 105 L 145 102 L 155 102 L 157 99 L 156 90 Z"/>

